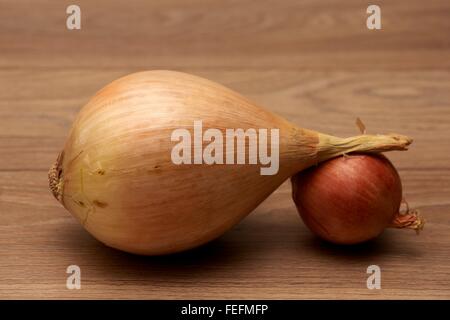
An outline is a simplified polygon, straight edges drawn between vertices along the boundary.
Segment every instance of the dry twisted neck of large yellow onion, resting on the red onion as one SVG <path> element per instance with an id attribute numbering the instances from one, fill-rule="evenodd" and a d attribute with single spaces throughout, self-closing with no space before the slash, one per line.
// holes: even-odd
<path id="1" fill-rule="evenodd" d="M 359 135 L 349 138 L 339 138 L 319 133 L 317 145 L 318 162 L 322 162 L 351 152 L 384 152 L 392 150 L 407 150 L 412 139 L 399 135 Z"/>

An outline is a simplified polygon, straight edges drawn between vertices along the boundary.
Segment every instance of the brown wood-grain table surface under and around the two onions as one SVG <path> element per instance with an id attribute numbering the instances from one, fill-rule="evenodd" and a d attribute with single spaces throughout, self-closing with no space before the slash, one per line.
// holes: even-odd
<path id="1" fill-rule="evenodd" d="M 81 30 L 66 7 L 81 7 Z M 0 3 L 0 298 L 450 298 L 450 2 Z M 131 72 L 221 82 L 301 126 L 415 139 L 390 153 L 422 234 L 339 247 L 301 223 L 285 183 L 220 239 L 140 257 L 93 239 L 53 199 L 47 170 L 79 108 Z M 381 290 L 366 268 L 381 267 Z M 66 288 L 79 265 L 81 289 Z"/>

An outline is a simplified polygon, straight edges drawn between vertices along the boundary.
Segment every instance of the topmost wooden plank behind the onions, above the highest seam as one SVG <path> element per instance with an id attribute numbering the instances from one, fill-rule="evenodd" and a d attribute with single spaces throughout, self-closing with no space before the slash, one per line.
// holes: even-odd
<path id="1" fill-rule="evenodd" d="M 5 67 L 395 69 L 450 67 L 450 3 L 377 1 L 383 29 L 366 28 L 367 1 L 3 1 Z M 32 8 L 32 10 L 30 10 Z M 20 22 L 20 23 L 19 23 Z M 130 58 L 132 57 L 132 58 Z"/>

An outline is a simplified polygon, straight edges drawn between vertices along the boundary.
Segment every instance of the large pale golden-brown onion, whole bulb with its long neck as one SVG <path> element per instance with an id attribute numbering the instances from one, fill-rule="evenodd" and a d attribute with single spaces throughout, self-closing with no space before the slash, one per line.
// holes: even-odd
<path id="1" fill-rule="evenodd" d="M 259 165 L 175 165 L 171 133 L 279 129 L 279 171 Z M 338 138 L 299 128 L 212 81 L 147 71 L 101 89 L 78 114 L 49 171 L 53 195 L 94 237 L 136 254 L 160 255 L 217 238 L 284 180 L 349 151 L 406 150 L 401 135 Z"/>

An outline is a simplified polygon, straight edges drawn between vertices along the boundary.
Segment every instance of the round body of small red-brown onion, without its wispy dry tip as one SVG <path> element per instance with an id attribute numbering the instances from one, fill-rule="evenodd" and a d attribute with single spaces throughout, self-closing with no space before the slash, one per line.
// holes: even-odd
<path id="1" fill-rule="evenodd" d="M 338 157 L 293 176 L 292 196 L 308 228 L 327 241 L 377 237 L 399 212 L 402 185 L 381 154 Z"/>

